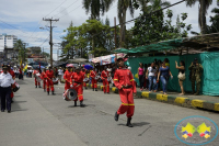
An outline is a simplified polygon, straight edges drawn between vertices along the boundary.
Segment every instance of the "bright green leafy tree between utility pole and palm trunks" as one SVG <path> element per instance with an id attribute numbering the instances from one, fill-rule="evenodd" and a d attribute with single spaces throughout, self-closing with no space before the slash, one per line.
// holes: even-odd
<path id="1" fill-rule="evenodd" d="M 115 43 L 114 29 L 111 29 L 108 24 L 110 20 L 106 24 L 97 20 L 87 20 L 80 26 L 70 25 L 64 37 L 61 60 L 74 57 L 88 58 L 89 54 L 94 54 L 94 56 L 111 54 L 111 50 L 115 48 Z M 118 38 L 118 34 L 116 36 Z"/>

